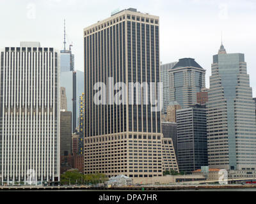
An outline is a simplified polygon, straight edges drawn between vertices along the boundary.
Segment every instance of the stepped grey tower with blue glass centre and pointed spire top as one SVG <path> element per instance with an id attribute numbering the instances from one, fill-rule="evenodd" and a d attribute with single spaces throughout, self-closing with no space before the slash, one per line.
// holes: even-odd
<path id="1" fill-rule="evenodd" d="M 210 168 L 255 170 L 256 123 L 244 54 L 213 56 L 207 103 Z"/>

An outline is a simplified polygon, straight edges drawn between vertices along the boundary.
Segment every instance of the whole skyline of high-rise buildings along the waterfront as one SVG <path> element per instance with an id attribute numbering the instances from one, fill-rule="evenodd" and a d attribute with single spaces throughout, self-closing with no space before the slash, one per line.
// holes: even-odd
<path id="1" fill-rule="evenodd" d="M 206 89 L 206 70 L 195 59 L 160 66 L 157 16 L 129 8 L 83 34 L 84 72 L 74 70 L 74 54 L 65 48 L 22 42 L 0 50 L 1 184 L 26 182 L 30 170 L 36 184 L 57 184 L 60 173 L 74 166 L 133 178 L 207 165 L 234 175 L 256 173 L 256 99 L 244 54 L 227 54 L 221 43 Z M 162 112 L 152 111 L 149 99 L 134 101 L 147 92 L 156 92 L 156 99 L 157 87 L 144 85 L 159 81 Z M 129 83 L 138 82 L 140 92 L 134 84 L 132 92 L 114 86 L 109 91 L 117 82 L 129 91 Z M 126 103 L 111 103 L 118 91 Z M 106 104 L 99 103 L 104 99 Z M 72 165 L 60 171 L 66 160 Z"/>

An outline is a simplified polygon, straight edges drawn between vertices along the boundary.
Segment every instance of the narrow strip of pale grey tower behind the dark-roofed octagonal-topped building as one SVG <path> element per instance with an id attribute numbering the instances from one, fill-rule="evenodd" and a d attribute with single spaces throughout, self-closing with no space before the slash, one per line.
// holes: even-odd
<path id="1" fill-rule="evenodd" d="M 172 69 L 175 64 L 177 64 L 177 62 L 161 64 L 160 66 L 160 82 L 163 83 L 163 90 L 161 96 L 161 100 L 163 101 L 162 114 L 166 113 L 166 107 L 170 103 L 169 70 Z"/>

